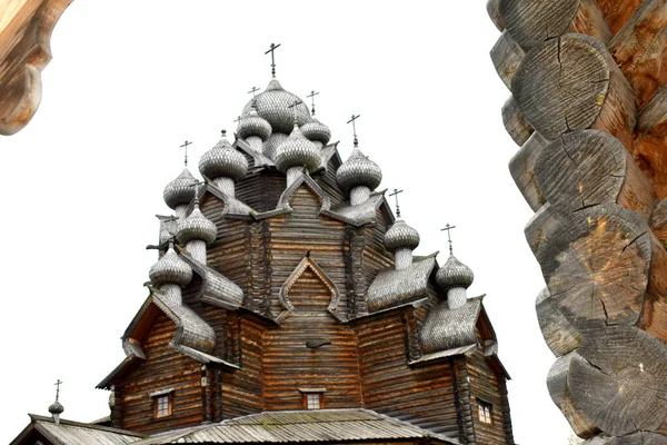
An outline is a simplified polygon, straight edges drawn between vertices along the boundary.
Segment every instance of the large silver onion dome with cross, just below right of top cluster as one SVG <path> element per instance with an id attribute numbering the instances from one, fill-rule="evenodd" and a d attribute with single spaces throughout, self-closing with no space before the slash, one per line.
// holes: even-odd
<path id="1" fill-rule="evenodd" d="M 381 180 L 380 167 L 356 146 L 350 157 L 336 171 L 336 182 L 342 190 L 349 190 L 352 206 L 366 201 Z"/>

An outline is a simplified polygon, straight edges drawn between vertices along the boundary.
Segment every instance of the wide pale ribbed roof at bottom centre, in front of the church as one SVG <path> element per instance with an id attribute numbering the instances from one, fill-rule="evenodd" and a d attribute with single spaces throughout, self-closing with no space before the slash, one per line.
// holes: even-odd
<path id="1" fill-rule="evenodd" d="M 368 409 L 265 412 L 220 424 L 158 434 L 139 444 L 317 443 L 427 437 L 445 444 L 458 444 L 455 439 Z"/>

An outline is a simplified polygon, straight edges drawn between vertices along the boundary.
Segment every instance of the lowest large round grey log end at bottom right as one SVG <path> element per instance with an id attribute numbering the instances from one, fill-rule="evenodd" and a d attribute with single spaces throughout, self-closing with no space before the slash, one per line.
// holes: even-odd
<path id="1" fill-rule="evenodd" d="M 549 394 L 581 437 L 657 432 L 667 417 L 667 347 L 633 326 L 600 326 L 559 358 Z"/>

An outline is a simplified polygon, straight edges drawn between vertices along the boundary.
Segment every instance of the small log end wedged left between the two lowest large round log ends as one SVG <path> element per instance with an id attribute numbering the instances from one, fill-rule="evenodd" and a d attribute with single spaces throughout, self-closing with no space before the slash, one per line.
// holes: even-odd
<path id="1" fill-rule="evenodd" d="M 551 300 L 549 289 L 544 288 L 535 303 L 539 328 L 545 342 L 556 357 L 575 350 L 581 344 L 579 333 Z"/>

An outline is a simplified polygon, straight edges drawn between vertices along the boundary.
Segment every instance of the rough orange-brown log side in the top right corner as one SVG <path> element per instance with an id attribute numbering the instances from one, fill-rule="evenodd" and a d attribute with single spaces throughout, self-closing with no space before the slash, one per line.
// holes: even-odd
<path id="1" fill-rule="evenodd" d="M 639 109 L 667 82 L 667 3 L 647 0 L 609 43 Z"/>

